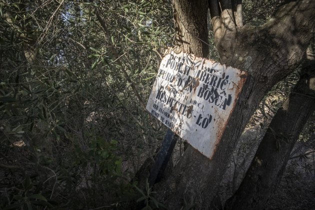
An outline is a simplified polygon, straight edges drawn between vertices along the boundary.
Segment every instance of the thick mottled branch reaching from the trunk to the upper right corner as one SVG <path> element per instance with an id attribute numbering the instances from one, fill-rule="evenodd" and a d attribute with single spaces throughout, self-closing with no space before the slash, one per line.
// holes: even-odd
<path id="1" fill-rule="evenodd" d="M 257 64 L 272 62 L 272 66 L 265 66 L 264 73 L 265 76 L 274 74 L 278 80 L 278 76 L 287 75 L 299 64 L 295 60 L 302 60 L 312 37 L 310 31 L 315 27 L 314 16 L 315 1 L 295 0 L 284 4 L 262 26 L 241 28 L 233 40 L 235 46 L 230 51 L 230 59 L 226 61 L 250 72 L 257 69 Z M 255 63 L 252 65 L 248 59 Z"/>

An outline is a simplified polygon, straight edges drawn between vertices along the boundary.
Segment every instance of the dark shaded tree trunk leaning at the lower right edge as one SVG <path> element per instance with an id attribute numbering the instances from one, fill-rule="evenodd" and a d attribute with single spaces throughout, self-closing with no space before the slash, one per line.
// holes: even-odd
<path id="1" fill-rule="evenodd" d="M 296 139 L 315 110 L 315 60 L 312 56 L 307 58 L 299 81 L 272 118 L 244 179 L 226 201 L 225 209 L 263 209 L 279 183 Z"/>

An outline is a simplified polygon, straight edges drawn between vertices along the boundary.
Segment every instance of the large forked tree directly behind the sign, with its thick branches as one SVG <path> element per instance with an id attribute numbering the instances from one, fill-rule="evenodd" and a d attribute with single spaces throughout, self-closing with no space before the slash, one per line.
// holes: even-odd
<path id="1" fill-rule="evenodd" d="M 259 101 L 278 80 L 288 75 L 302 60 L 311 39 L 310 31 L 315 26 L 315 1 L 291 0 L 283 4 L 273 18 L 259 27 L 242 26 L 241 18 L 237 15 L 241 12 L 241 6 L 237 3 L 238 6 L 235 6 L 231 0 L 220 0 L 219 3 L 217 0 L 209 0 L 208 3 L 204 0 L 173 2 L 175 25 L 183 23 L 182 27 L 186 33 L 197 36 L 193 40 L 199 40 L 201 45 L 207 43 L 200 35 L 206 27 L 206 21 L 203 23 L 200 17 L 205 18 L 206 11 L 190 8 L 198 8 L 203 3 L 204 7 L 209 5 L 220 62 L 248 72 L 247 80 L 213 157 L 208 159 L 189 146 L 172 175 L 155 186 L 159 200 L 169 209 L 180 209 L 183 198 L 188 205 L 205 208 L 210 206 L 228 157 Z M 176 5 L 180 5 L 180 10 Z M 179 12 L 182 14 L 178 15 Z M 190 28 L 182 18 L 189 18 L 194 24 L 204 25 Z M 195 30 L 199 32 L 193 32 Z M 185 35 L 178 29 L 176 32 L 177 36 Z M 190 38 L 182 40 L 186 44 L 190 42 Z M 182 49 L 185 49 L 184 43 L 178 42 Z M 204 53 L 205 46 L 193 46 L 195 48 L 191 45 L 188 52 L 197 55 Z"/>

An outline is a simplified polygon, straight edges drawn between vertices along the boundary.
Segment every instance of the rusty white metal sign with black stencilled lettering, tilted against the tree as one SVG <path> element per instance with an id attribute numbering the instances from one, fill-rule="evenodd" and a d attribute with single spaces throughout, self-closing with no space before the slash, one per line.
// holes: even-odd
<path id="1" fill-rule="evenodd" d="M 237 68 L 168 50 L 146 109 L 211 158 L 245 79 Z"/>

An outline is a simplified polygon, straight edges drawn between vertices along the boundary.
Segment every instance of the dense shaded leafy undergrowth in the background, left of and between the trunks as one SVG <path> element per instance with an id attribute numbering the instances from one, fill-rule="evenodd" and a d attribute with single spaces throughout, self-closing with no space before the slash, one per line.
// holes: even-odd
<path id="1" fill-rule="evenodd" d="M 255 3 L 244 1 L 244 21 L 259 25 L 280 1 L 259 1 L 258 11 Z M 209 34 L 210 57 L 218 59 Z M 173 41 L 168 0 L 0 0 L 0 208 L 128 208 L 136 200 L 160 207 L 133 176 L 164 136 L 144 106 Z M 297 71 L 266 95 L 248 128 L 264 131 Z M 314 177 L 306 161 L 313 158 L 314 119 L 286 181 Z M 259 140 L 250 140 L 233 159 L 254 152 Z M 183 150 L 177 144 L 173 163 Z M 234 172 L 246 170 L 248 163 L 239 162 L 231 160 Z M 233 177 L 225 179 L 228 190 Z M 289 184 L 285 190 L 291 192 Z"/>

